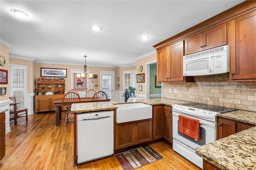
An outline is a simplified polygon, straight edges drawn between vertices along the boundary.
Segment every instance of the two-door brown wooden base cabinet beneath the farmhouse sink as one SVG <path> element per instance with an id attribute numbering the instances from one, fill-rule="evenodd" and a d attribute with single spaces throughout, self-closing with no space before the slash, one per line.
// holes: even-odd
<path id="1" fill-rule="evenodd" d="M 152 141 L 152 119 L 116 123 L 115 149 Z"/>

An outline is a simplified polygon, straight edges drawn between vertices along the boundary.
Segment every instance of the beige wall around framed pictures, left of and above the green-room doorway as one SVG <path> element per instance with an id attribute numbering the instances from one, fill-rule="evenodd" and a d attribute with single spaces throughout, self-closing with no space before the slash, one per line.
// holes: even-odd
<path id="1" fill-rule="evenodd" d="M 137 61 L 137 64 L 136 64 L 136 70 L 137 70 L 137 74 L 138 73 L 145 73 L 146 71 L 146 63 L 149 63 L 151 61 L 156 61 L 156 54 L 153 54 L 153 55 L 150 55 L 148 57 L 145 57 L 143 59 L 140 59 Z M 143 70 L 142 72 L 138 72 L 139 70 L 139 66 L 142 65 L 143 66 Z M 149 70 L 148 70 L 148 73 L 149 73 Z M 145 78 L 146 78 L 146 73 L 145 73 Z M 139 91 L 139 86 L 142 86 L 142 91 Z M 136 93 L 137 94 L 142 94 L 142 95 L 146 95 L 146 88 L 145 88 L 145 83 L 137 83 L 137 87 L 136 87 Z"/>

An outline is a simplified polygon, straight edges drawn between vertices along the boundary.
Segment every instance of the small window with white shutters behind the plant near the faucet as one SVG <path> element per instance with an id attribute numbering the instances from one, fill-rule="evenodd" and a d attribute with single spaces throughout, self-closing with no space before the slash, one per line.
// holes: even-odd
<path id="1" fill-rule="evenodd" d="M 123 71 L 123 87 L 128 89 L 129 87 L 136 88 L 136 70 Z"/>

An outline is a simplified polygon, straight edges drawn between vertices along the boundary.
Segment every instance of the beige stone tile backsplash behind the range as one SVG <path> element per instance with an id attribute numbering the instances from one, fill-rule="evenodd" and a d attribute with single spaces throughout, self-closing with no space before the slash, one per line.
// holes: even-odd
<path id="1" fill-rule="evenodd" d="M 256 82 L 228 82 L 228 75 L 196 76 L 194 80 L 164 83 L 163 98 L 256 111 Z"/>

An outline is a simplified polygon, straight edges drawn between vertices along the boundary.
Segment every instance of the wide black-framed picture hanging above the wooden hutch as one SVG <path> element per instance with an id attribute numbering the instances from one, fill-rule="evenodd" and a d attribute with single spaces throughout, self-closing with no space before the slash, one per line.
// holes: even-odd
<path id="1" fill-rule="evenodd" d="M 43 77 L 67 77 L 67 69 L 62 68 L 41 68 L 41 76 Z"/>

